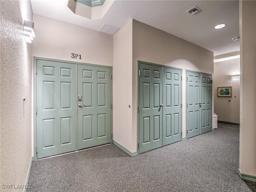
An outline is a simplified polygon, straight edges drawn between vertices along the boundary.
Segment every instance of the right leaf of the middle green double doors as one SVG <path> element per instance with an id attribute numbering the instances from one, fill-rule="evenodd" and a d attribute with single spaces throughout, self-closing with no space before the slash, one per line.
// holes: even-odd
<path id="1" fill-rule="evenodd" d="M 163 84 L 163 145 L 168 145 L 181 140 L 181 70 L 164 67 Z"/>

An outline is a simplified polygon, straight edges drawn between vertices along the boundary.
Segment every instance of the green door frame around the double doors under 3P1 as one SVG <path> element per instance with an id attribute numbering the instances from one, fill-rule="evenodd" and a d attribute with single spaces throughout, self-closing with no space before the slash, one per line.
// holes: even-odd
<path id="1" fill-rule="evenodd" d="M 32 112 L 32 118 L 33 118 L 33 149 L 34 149 L 34 160 L 37 159 L 37 113 L 36 113 L 36 103 L 37 103 L 37 60 L 46 60 L 46 61 L 53 61 L 53 62 L 62 62 L 62 63 L 69 63 L 69 64 L 76 64 L 76 74 L 78 72 L 77 65 L 87 65 L 87 66 L 96 66 L 96 67 L 105 67 L 110 68 L 110 102 L 113 104 L 113 82 L 112 82 L 112 74 L 113 74 L 113 67 L 112 66 L 106 66 L 106 65 L 98 65 L 98 64 L 90 64 L 90 63 L 82 63 L 82 62 L 75 62 L 75 61 L 67 61 L 67 60 L 59 60 L 59 59 L 51 59 L 51 58 L 42 58 L 42 57 L 33 57 L 33 112 Z M 78 90 L 78 78 L 76 77 L 76 93 Z M 76 100 L 76 106 L 78 106 L 78 100 Z M 110 134 L 113 133 L 113 108 L 110 108 Z M 76 108 L 76 151 L 78 151 L 78 108 Z M 111 143 L 113 143 L 113 139 L 111 137 L 110 140 Z"/>

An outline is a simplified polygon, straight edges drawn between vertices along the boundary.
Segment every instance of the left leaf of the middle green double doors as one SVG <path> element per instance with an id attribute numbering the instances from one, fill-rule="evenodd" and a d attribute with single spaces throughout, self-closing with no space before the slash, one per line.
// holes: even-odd
<path id="1" fill-rule="evenodd" d="M 162 67 L 140 63 L 140 153 L 162 146 Z"/>

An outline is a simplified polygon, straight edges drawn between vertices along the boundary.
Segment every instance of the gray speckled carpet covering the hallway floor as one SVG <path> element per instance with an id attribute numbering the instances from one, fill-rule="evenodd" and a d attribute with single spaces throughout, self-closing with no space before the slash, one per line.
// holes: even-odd
<path id="1" fill-rule="evenodd" d="M 28 192 L 251 192 L 238 176 L 239 126 L 128 156 L 114 144 L 32 163 Z"/>

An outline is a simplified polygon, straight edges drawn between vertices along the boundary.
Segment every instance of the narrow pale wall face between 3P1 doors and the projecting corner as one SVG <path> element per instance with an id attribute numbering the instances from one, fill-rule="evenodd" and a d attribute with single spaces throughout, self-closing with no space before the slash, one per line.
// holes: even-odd
<path id="1" fill-rule="evenodd" d="M 114 34 L 113 45 L 113 140 L 132 149 L 132 20 Z"/>

